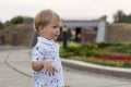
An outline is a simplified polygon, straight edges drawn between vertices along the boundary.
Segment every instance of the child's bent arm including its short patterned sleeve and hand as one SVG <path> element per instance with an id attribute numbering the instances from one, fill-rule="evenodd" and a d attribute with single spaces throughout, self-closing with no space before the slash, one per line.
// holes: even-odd
<path id="1" fill-rule="evenodd" d="M 41 49 L 41 47 L 34 47 L 33 51 L 32 51 L 32 69 L 34 71 L 40 71 L 40 70 L 45 70 L 47 74 L 55 74 L 56 69 L 55 66 L 51 65 L 51 63 L 49 63 L 46 60 L 43 60 L 45 57 L 45 51 L 44 49 Z"/>

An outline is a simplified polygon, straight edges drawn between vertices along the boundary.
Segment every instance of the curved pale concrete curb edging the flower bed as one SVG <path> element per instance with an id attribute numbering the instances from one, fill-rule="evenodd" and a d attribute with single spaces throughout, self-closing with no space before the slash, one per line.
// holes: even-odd
<path id="1" fill-rule="evenodd" d="M 84 72 L 131 78 L 131 69 L 103 66 L 103 65 L 96 65 L 81 61 L 67 60 L 67 59 L 61 59 L 61 62 L 63 66 L 73 67 Z"/>

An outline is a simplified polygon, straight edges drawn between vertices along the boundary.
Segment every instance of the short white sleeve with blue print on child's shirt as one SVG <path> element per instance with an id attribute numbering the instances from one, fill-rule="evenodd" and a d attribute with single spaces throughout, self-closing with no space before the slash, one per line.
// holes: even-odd
<path id="1" fill-rule="evenodd" d="M 32 61 L 43 61 L 45 58 L 45 50 L 40 46 L 36 46 L 32 50 Z"/>

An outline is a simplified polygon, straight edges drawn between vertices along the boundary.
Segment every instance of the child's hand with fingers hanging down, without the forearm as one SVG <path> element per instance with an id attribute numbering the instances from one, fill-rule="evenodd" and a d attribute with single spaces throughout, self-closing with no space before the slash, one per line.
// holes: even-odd
<path id="1" fill-rule="evenodd" d="M 51 65 L 51 63 L 49 63 L 48 61 L 43 61 L 44 64 L 44 69 L 46 70 L 46 73 L 50 76 L 51 74 L 55 75 L 55 73 L 57 72 L 57 70 L 55 69 L 55 66 Z"/>

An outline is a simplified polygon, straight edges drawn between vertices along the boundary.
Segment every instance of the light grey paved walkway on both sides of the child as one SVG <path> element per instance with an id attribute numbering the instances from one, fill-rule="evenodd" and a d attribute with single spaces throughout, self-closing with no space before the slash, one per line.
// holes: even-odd
<path id="1" fill-rule="evenodd" d="M 33 87 L 29 50 L 0 51 L 0 87 Z M 64 69 L 68 87 L 131 87 L 131 80 Z"/>

